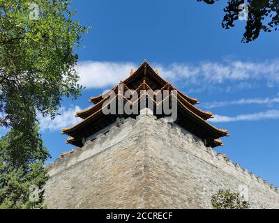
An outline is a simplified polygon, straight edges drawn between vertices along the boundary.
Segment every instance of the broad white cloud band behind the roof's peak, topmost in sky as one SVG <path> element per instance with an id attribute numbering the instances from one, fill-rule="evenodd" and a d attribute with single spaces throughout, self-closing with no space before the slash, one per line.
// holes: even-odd
<path id="1" fill-rule="evenodd" d="M 125 79 L 130 69 L 138 64 L 131 62 L 98 62 L 83 61 L 78 65 L 80 84 L 91 88 L 104 88 L 117 84 Z M 251 61 L 226 60 L 221 62 L 202 61 L 196 65 L 190 63 L 172 63 L 164 66 L 161 63 L 151 63 L 158 69 L 160 75 L 172 82 L 188 86 L 195 85 L 196 89 L 206 89 L 212 86 L 231 84 L 237 88 L 252 87 L 251 82 L 263 80 L 269 86 L 279 84 L 279 59 L 261 63 Z M 232 91 L 232 86 L 226 86 Z"/>

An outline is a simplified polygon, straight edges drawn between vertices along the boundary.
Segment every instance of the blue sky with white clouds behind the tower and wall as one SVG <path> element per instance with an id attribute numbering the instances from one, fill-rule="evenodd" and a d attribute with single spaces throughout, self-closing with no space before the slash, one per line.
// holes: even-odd
<path id="1" fill-rule="evenodd" d="M 241 43 L 245 22 L 222 29 L 224 5 L 74 0 L 77 20 L 93 26 L 77 50 L 86 90 L 75 101 L 63 100 L 54 121 L 42 120 L 49 162 L 73 148 L 60 132 L 77 122 L 74 112 L 147 59 L 178 89 L 198 98 L 200 108 L 213 112 L 214 125 L 229 130 L 217 151 L 279 186 L 279 34 L 261 33 L 255 42 Z"/>

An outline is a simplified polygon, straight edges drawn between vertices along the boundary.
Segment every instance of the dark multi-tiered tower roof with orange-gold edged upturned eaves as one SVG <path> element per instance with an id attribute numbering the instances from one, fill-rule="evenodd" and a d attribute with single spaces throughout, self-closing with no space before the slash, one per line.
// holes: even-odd
<path id="1" fill-rule="evenodd" d="M 176 122 L 182 127 L 190 130 L 190 132 L 193 132 L 193 134 L 196 134 L 201 139 L 206 139 L 207 146 L 223 146 L 223 143 L 219 138 L 228 136 L 228 132 L 227 130 L 216 128 L 210 123 L 206 122 L 206 119 L 212 118 L 211 112 L 204 112 L 201 109 L 195 107 L 194 105 L 197 103 L 195 98 L 190 98 L 188 95 L 178 91 L 174 86 L 172 86 L 172 84 L 166 82 L 158 75 L 157 72 L 151 68 L 151 66 L 149 66 L 146 61 L 144 61 L 140 68 L 130 75 L 130 77 L 125 79 L 123 82 L 120 82 L 120 84 L 123 84 L 124 89 L 127 91 L 133 91 L 134 93 L 140 90 L 149 89 L 153 92 L 154 89 L 160 89 L 161 91 L 163 89 L 176 90 L 176 95 L 172 94 L 172 91 L 169 91 L 167 97 L 163 98 L 163 100 L 160 102 L 156 102 L 156 100 L 150 98 L 149 95 L 145 96 L 153 100 L 153 105 L 156 107 L 156 105 L 163 103 L 171 95 L 174 95 L 178 105 L 178 118 Z M 152 86 L 149 86 L 149 84 L 152 84 Z M 110 99 L 112 93 L 115 93 L 115 96 L 114 98 Z M 106 95 L 99 95 L 98 97 L 91 98 L 90 101 L 96 104 L 81 112 L 77 112 L 76 114 L 76 116 L 84 118 L 84 120 L 70 128 L 63 128 L 61 133 L 68 134 L 70 136 L 70 138 L 67 139 L 67 143 L 73 144 L 75 146 L 82 146 L 83 137 L 98 132 L 101 130 L 101 128 L 113 123 L 116 120 L 117 115 L 105 115 L 103 114 L 103 109 L 110 105 L 110 103 L 114 100 L 117 100 L 119 97 L 123 98 L 126 103 L 130 103 L 130 105 L 133 106 L 139 104 L 138 102 L 140 100 L 140 98 L 137 98 L 135 102 L 131 102 L 125 98 L 123 94 L 119 93 L 117 86 L 114 86 L 110 93 L 107 93 Z M 110 102 L 106 102 L 106 105 L 104 106 L 103 102 L 109 99 Z"/>

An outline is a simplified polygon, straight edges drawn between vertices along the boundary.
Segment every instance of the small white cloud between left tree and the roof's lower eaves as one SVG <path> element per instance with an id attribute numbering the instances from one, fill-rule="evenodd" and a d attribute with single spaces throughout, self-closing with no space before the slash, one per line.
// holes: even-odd
<path id="1" fill-rule="evenodd" d="M 57 115 L 54 120 L 51 120 L 50 116 L 43 117 L 39 114 L 38 121 L 40 122 L 40 131 L 61 131 L 62 128 L 67 128 L 79 123 L 82 119 L 75 117 L 75 113 L 81 110 L 82 109 L 78 106 L 69 107 L 68 109 L 61 107 L 61 109 L 59 109 L 60 115 Z"/>

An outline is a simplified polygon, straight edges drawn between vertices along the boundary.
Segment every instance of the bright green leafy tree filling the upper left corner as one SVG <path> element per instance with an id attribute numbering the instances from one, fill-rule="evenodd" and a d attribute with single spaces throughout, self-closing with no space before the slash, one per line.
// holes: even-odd
<path id="1" fill-rule="evenodd" d="M 68 0 L 0 0 L 0 125 L 54 118 L 63 96 L 80 95 L 74 50 L 86 28 L 75 13 Z"/>

